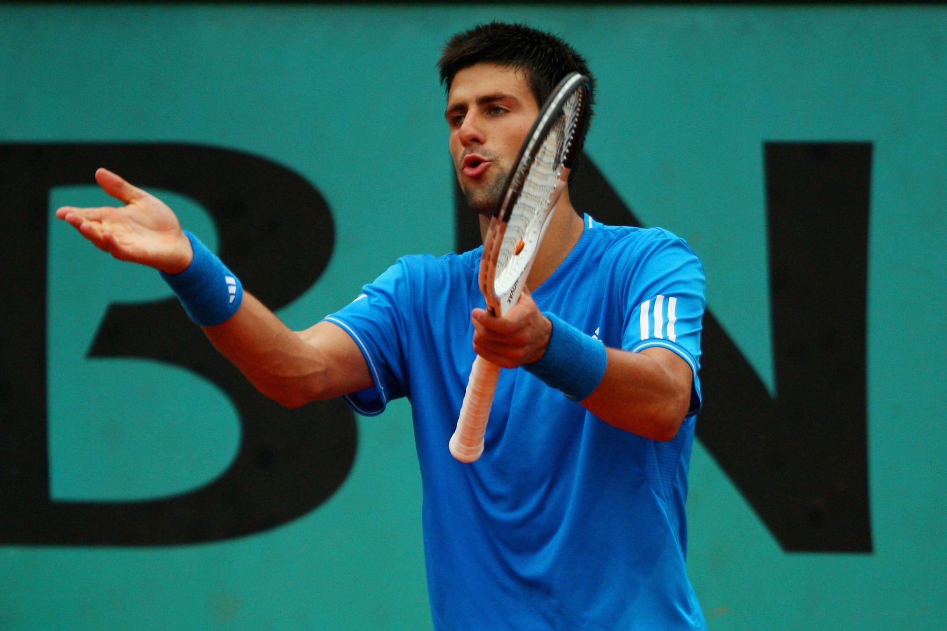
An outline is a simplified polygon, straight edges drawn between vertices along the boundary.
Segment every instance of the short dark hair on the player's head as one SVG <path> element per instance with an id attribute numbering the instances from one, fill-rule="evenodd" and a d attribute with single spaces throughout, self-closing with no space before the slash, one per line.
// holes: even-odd
<path id="1" fill-rule="evenodd" d="M 457 33 L 444 45 L 438 61 L 444 89 L 450 92 L 458 72 L 482 61 L 525 72 L 538 107 L 543 107 L 552 89 L 570 72 L 588 77 L 591 85 L 585 129 L 580 131 L 579 137 L 581 148 L 592 119 L 595 77 L 588 69 L 588 62 L 575 48 L 562 38 L 526 25 L 491 22 L 474 26 Z"/>

